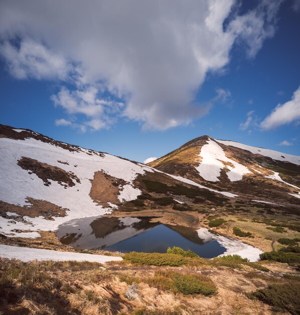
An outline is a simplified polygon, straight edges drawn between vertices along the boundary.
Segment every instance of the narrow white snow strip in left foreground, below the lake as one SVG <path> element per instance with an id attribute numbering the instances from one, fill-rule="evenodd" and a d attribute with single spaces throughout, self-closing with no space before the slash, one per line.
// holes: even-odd
<path id="1" fill-rule="evenodd" d="M 32 260 L 54 260 L 54 261 L 89 261 L 97 263 L 106 263 L 108 261 L 120 261 L 121 257 L 82 254 L 72 252 L 58 252 L 52 250 L 43 250 L 39 248 L 26 248 L 9 245 L 0 245 L 0 257 L 9 259 L 19 259 L 24 262 Z"/>

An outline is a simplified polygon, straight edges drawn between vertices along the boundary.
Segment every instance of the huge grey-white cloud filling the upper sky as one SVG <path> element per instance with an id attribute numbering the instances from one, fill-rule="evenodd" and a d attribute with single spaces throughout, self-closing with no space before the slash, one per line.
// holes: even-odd
<path id="1" fill-rule="evenodd" d="M 280 4 L 238 15 L 237 0 L 3 0 L 0 54 L 17 78 L 72 84 L 52 99 L 89 117 L 86 126 L 107 126 L 110 113 L 163 130 L 208 113 L 194 101 L 207 73 L 228 64 L 235 42 L 254 57 L 274 35 Z M 124 106 L 102 104 L 102 94 Z"/>

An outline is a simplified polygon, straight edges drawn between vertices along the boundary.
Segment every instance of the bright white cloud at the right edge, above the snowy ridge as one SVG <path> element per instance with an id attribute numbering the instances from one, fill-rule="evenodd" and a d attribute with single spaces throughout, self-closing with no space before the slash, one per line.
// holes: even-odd
<path id="1" fill-rule="evenodd" d="M 278 104 L 260 123 L 264 130 L 274 129 L 300 119 L 300 87 L 293 93 L 290 101 Z"/>

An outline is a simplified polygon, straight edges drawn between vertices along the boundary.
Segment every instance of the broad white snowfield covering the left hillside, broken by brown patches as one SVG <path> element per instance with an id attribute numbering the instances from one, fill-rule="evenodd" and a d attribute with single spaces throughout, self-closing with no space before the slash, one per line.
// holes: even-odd
<path id="1" fill-rule="evenodd" d="M 31 172 L 18 166 L 18 160 L 22 156 L 59 167 L 67 172 L 73 172 L 79 178 L 80 183 L 73 180 L 75 185 L 65 189 L 57 182 L 50 180 L 51 185 L 45 186 L 37 175 L 30 174 Z M 31 197 L 37 200 L 46 200 L 70 210 L 67 211 L 65 217 L 55 217 L 54 221 L 46 220 L 43 217 L 25 216 L 24 218 L 32 224 L 23 222 L 14 224 L 8 222 L 10 219 L 0 217 L 0 231 L 11 234 L 9 236 L 13 237 L 35 238 L 39 234 L 37 232 L 14 233 L 11 232 L 12 229 L 55 230 L 60 224 L 71 219 L 111 212 L 112 208 L 98 205 L 89 195 L 92 186 L 91 180 L 97 171 L 103 171 L 126 182 L 124 186 L 119 187 L 118 199 L 121 201 L 136 199 L 141 193 L 139 189 L 133 186 L 133 180 L 138 174 L 144 174 L 145 171 L 154 172 L 152 168 L 145 165 L 136 165 L 110 154 L 103 154 L 102 157 L 98 152 L 83 148 L 79 152 L 69 151 L 33 138 L 25 140 L 0 138 L 0 161 L 0 200 L 20 206 L 30 206 L 27 198 Z M 58 161 L 68 164 L 62 164 Z"/>

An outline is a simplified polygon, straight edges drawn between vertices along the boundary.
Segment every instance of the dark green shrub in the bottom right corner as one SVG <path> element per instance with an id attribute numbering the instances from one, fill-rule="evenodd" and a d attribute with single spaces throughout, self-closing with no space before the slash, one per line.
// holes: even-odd
<path id="1" fill-rule="evenodd" d="M 300 313 L 300 286 L 293 281 L 271 284 L 250 293 L 249 297 L 271 305 L 273 311 L 286 310 L 292 315 Z"/>

